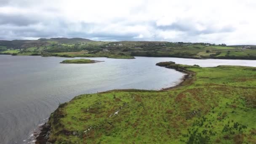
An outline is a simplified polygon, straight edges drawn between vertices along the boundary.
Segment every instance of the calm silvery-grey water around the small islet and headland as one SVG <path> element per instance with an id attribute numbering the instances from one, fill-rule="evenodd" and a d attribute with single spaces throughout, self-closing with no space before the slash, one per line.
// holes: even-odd
<path id="1" fill-rule="evenodd" d="M 83 93 L 112 89 L 167 88 L 184 75 L 155 66 L 160 61 L 202 67 L 244 65 L 256 61 L 180 58 L 107 59 L 95 64 L 59 64 L 67 58 L 0 55 L 0 143 L 27 144 L 38 125 L 59 105 Z M 71 58 L 69 58 L 71 59 Z"/>

